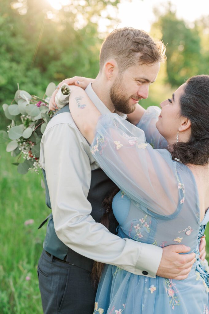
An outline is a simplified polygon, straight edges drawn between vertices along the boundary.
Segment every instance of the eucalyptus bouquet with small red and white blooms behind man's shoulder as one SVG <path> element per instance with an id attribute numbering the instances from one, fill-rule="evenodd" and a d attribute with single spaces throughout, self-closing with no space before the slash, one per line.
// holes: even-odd
<path id="1" fill-rule="evenodd" d="M 48 104 L 55 88 L 55 84 L 50 83 L 43 98 L 39 98 L 20 90 L 18 86 L 11 105 L 3 104 L 4 114 L 11 123 L 7 132 L 0 131 L 0 143 L 8 142 L 7 152 L 11 152 L 13 157 L 18 157 L 13 165 L 17 166 L 20 174 L 25 174 L 29 170 L 38 173 L 41 168 L 40 142 L 47 123 L 53 116 Z"/>

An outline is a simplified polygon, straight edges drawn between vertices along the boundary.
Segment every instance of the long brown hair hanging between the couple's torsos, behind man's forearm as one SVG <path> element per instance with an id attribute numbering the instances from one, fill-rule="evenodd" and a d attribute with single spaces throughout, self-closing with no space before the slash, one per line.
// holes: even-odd
<path id="1" fill-rule="evenodd" d="M 102 205 L 105 209 L 105 213 L 102 216 L 100 223 L 104 225 L 107 229 L 110 230 L 110 221 L 114 221 L 115 217 L 113 215 L 113 209 L 112 209 L 112 203 L 113 203 L 113 197 L 115 194 L 119 192 L 119 187 L 115 187 L 112 192 L 104 199 Z M 114 224 L 113 224 L 114 225 Z M 110 230 L 114 232 L 115 230 Z M 91 279 L 94 287 L 96 287 L 99 283 L 99 279 L 102 274 L 102 270 L 104 268 L 104 264 L 100 262 L 94 262 L 93 268 L 91 271 Z"/>

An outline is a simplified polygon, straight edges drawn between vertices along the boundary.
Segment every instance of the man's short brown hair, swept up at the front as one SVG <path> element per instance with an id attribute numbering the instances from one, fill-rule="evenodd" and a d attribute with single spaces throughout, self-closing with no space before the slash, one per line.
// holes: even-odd
<path id="1" fill-rule="evenodd" d="M 123 72 L 136 63 L 152 64 L 165 61 L 165 46 L 162 41 L 154 41 L 143 30 L 124 27 L 113 30 L 103 42 L 100 70 L 110 58 L 117 61 L 119 72 Z"/>

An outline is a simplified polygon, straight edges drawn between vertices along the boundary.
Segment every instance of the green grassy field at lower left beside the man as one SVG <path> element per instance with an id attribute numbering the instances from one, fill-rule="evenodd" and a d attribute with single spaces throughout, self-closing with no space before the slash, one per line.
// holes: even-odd
<path id="1" fill-rule="evenodd" d="M 36 269 L 46 227 L 37 228 L 49 209 L 41 176 L 19 175 L 16 166 L 11 165 L 16 159 L 5 148 L 6 145 L 0 145 L 0 313 L 39 314 L 42 308 Z M 34 223 L 24 225 L 28 219 L 34 219 Z"/>

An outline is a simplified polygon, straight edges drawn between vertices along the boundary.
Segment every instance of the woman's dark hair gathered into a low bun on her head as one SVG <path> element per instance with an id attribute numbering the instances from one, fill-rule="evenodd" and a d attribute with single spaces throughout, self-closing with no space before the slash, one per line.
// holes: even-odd
<path id="1" fill-rule="evenodd" d="M 206 165 L 209 159 L 209 75 L 196 75 L 186 81 L 179 98 L 180 115 L 191 122 L 188 142 L 173 145 L 173 159 L 183 164 Z"/>

